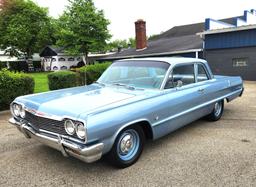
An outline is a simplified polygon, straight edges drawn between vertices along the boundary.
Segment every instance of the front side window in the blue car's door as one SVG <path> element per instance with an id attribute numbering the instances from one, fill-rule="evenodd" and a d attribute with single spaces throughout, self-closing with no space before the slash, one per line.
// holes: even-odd
<path id="1" fill-rule="evenodd" d="M 165 88 L 181 87 L 195 83 L 194 64 L 174 67 Z"/>

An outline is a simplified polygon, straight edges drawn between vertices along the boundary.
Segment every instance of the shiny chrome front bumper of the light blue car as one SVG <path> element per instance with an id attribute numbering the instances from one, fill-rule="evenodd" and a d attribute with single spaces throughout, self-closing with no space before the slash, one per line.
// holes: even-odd
<path id="1" fill-rule="evenodd" d="M 54 149 L 62 152 L 63 156 L 73 156 L 84 162 L 91 163 L 99 160 L 102 156 L 103 143 L 98 143 L 92 146 L 81 146 L 74 142 L 64 139 L 61 135 L 47 136 L 36 132 L 32 127 L 27 124 L 21 124 L 14 118 L 9 119 L 9 122 L 15 125 L 26 138 L 34 138 L 39 142 L 48 145 Z"/>

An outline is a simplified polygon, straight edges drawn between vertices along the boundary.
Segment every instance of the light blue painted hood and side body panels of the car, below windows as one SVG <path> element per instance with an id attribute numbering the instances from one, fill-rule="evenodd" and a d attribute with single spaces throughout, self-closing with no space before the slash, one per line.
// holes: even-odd
<path id="1" fill-rule="evenodd" d="M 213 76 L 208 64 L 202 62 L 211 79 L 180 88 L 132 90 L 95 83 L 22 96 L 14 102 L 47 115 L 86 121 L 87 143 L 103 142 L 104 154 L 118 133 L 131 124 L 148 123 L 153 139 L 157 139 L 211 113 L 216 101 L 239 96 L 243 86 L 240 77 Z"/>

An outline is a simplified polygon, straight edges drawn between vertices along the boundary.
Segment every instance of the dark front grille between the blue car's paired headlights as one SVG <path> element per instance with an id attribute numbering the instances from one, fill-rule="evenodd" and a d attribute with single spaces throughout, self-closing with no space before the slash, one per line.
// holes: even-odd
<path id="1" fill-rule="evenodd" d="M 25 119 L 30 123 L 30 125 L 35 129 L 43 129 L 46 131 L 68 135 L 64 128 L 64 121 L 57 121 L 53 119 L 43 118 L 36 116 L 30 112 L 26 112 Z"/>

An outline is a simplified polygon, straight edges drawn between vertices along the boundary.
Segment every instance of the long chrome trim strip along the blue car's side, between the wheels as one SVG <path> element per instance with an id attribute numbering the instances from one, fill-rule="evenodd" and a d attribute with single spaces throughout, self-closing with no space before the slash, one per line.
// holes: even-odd
<path id="1" fill-rule="evenodd" d="M 161 120 L 161 121 L 158 121 L 158 122 L 152 124 L 152 127 L 156 127 L 156 126 L 160 125 L 161 123 L 164 123 L 164 122 L 166 122 L 166 121 L 169 121 L 169 120 L 178 118 L 178 117 L 180 117 L 180 116 L 182 116 L 182 115 L 185 115 L 185 114 L 187 114 L 187 113 L 190 113 L 190 112 L 193 112 L 193 111 L 198 110 L 198 109 L 200 109 L 200 108 L 203 108 L 203 107 L 205 107 L 205 106 L 207 106 L 207 105 L 210 105 L 210 104 L 212 104 L 212 103 L 215 103 L 215 102 L 217 102 L 217 101 L 219 101 L 219 100 L 225 99 L 225 98 L 227 98 L 227 97 L 229 97 L 229 96 L 231 96 L 231 95 L 233 95 L 233 94 L 238 94 L 238 93 L 240 93 L 241 91 L 242 91 L 242 89 L 239 89 L 239 90 L 237 90 L 237 91 L 231 92 L 231 93 L 229 93 L 229 94 L 227 94 L 227 95 L 224 95 L 224 96 L 222 96 L 222 97 L 213 99 L 213 100 L 211 100 L 211 101 L 208 101 L 208 102 L 203 103 L 203 104 L 201 104 L 201 105 L 198 105 L 198 106 L 196 106 L 196 107 L 190 108 L 190 109 L 188 109 L 188 110 L 185 110 L 185 111 L 180 112 L 180 113 L 178 113 L 178 114 L 175 114 L 175 115 L 173 115 L 173 116 L 170 116 L 170 117 L 168 117 L 168 118 L 165 118 L 165 119 L 163 119 L 163 120 Z"/>

